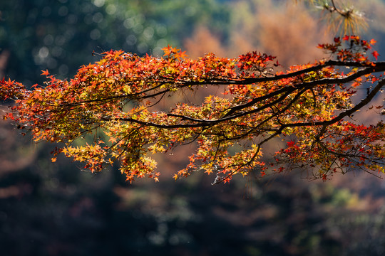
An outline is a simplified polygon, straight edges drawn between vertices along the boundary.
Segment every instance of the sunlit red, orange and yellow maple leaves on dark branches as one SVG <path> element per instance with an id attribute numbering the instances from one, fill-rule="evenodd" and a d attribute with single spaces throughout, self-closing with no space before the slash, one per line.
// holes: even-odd
<path id="1" fill-rule="evenodd" d="M 128 181 L 144 176 L 158 181 L 152 155 L 184 144 L 194 145 L 195 152 L 175 178 L 204 171 L 215 174 L 215 182 L 227 182 L 234 174 L 265 176 L 297 168 L 324 179 L 357 168 L 384 172 L 384 123 L 365 126 L 350 119 L 385 83 L 376 75 L 384 73 L 385 64 L 366 55 L 374 43 L 335 38 L 319 48 L 336 60 L 295 65 L 287 72 L 275 71 L 278 61 L 257 52 L 193 60 L 170 46 L 162 58 L 111 50 L 71 80 L 47 70 L 46 84 L 31 90 L 2 80 L 0 98 L 14 100 L 4 118 L 30 130 L 36 141 L 62 143 L 53 161 L 63 153 L 91 171 L 118 162 Z M 346 74 L 339 70 L 346 67 Z M 354 102 L 365 82 L 374 87 Z M 170 95 L 206 86 L 223 88 L 223 94 L 200 105 L 157 108 Z M 262 155 L 271 144 L 279 149 Z"/>

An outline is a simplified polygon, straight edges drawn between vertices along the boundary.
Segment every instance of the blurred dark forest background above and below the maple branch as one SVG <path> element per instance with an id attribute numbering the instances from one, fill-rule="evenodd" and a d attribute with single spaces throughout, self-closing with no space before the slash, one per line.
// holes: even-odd
<path id="1" fill-rule="evenodd" d="M 385 1 L 351 2 L 368 18 L 363 36 L 385 55 Z M 161 55 L 168 44 L 194 58 L 259 50 L 285 67 L 322 58 L 317 44 L 335 34 L 319 11 L 293 3 L 0 1 L 0 77 L 31 86 L 43 83 L 41 70 L 71 78 L 98 60 L 93 50 Z M 159 183 L 129 184 L 114 168 L 91 174 L 71 159 L 51 163 L 55 145 L 34 144 L 8 122 L 0 145 L 1 255 L 385 254 L 385 183 L 369 174 L 212 186 L 215 177 L 199 173 L 173 180 L 185 164 L 179 151 L 159 159 Z"/>

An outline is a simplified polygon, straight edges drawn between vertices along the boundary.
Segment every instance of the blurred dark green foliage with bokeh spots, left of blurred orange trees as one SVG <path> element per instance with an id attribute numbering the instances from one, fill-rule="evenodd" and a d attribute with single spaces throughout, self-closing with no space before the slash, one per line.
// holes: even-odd
<path id="1" fill-rule="evenodd" d="M 1 1 L 0 11 L 0 51 L 11 53 L 4 73 L 31 85 L 42 82 L 40 70 L 72 77 L 97 60 L 93 51 L 159 55 L 198 24 L 225 34 L 230 8 L 215 0 L 15 0 Z"/>

